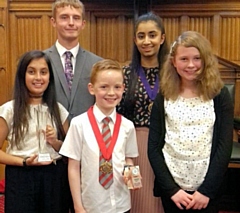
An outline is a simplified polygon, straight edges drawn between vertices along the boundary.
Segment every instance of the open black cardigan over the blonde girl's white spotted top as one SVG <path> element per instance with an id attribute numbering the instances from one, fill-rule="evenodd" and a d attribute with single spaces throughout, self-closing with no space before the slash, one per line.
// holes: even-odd
<path id="1" fill-rule="evenodd" d="M 214 98 L 216 120 L 213 130 L 210 164 L 203 183 L 197 191 L 213 199 L 222 184 L 232 150 L 233 104 L 226 87 Z M 148 158 L 155 174 L 154 196 L 171 197 L 180 187 L 164 162 L 162 148 L 165 137 L 164 97 L 159 93 L 150 118 Z"/>

